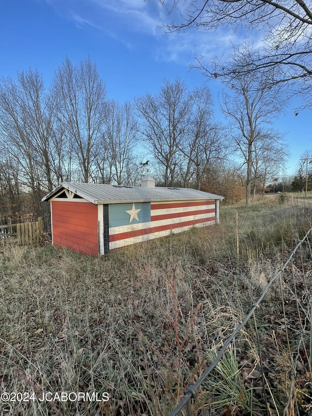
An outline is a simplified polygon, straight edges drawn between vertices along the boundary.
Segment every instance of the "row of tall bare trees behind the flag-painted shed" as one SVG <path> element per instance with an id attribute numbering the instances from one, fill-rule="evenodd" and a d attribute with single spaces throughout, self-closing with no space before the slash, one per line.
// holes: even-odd
<path id="1" fill-rule="evenodd" d="M 228 202 L 247 192 L 249 203 L 256 182 L 264 188 L 286 160 L 283 138 L 267 127 L 278 112 L 277 90 L 264 88 L 261 77 L 226 82 L 220 104 L 232 124 L 215 119 L 207 85 L 190 91 L 181 79 L 164 80 L 158 93 L 133 103 L 108 99 L 89 58 L 65 59 L 49 87 L 32 69 L 1 79 L 1 216 L 23 211 L 27 197 L 29 211 L 41 216 L 42 196 L 61 182 L 139 185 L 147 157 L 159 185 Z"/>

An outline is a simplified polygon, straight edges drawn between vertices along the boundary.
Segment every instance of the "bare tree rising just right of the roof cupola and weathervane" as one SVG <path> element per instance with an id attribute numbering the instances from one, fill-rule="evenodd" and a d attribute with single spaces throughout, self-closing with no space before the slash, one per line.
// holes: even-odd
<path id="1" fill-rule="evenodd" d="M 180 144 L 189 129 L 190 100 L 186 85 L 176 79 L 164 81 L 160 93 L 146 94 L 135 100 L 139 117 L 141 143 L 164 168 L 165 186 L 173 186 L 180 163 Z"/>

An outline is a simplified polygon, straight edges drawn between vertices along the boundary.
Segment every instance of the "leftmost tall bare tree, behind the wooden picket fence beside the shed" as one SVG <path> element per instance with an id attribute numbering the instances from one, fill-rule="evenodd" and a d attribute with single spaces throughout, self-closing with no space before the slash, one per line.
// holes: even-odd
<path id="1" fill-rule="evenodd" d="M 50 163 L 54 156 L 50 141 L 53 108 L 37 71 L 19 73 L 17 81 L 2 79 L 0 130 L 2 151 L 20 165 L 20 178 L 31 189 L 39 216 L 42 190 L 52 190 L 55 182 Z"/>

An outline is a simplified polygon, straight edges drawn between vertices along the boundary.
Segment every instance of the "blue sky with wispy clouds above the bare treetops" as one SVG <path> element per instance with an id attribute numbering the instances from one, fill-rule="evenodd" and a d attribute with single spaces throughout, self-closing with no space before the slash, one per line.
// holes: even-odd
<path id="1" fill-rule="evenodd" d="M 105 81 L 108 98 L 133 101 L 159 92 L 164 79 L 179 77 L 190 90 L 201 85 L 206 78 L 189 67 L 195 55 L 213 58 L 230 53 L 231 42 L 251 39 L 250 33 L 231 29 L 169 34 L 160 27 L 165 19 L 166 9 L 158 0 L 2 0 L 0 77 L 14 78 L 18 71 L 37 68 L 48 86 L 66 56 L 74 63 L 89 56 Z M 253 33 L 253 40 L 261 41 L 261 33 Z M 208 86 L 216 118 L 222 120 L 217 101 L 222 86 L 217 80 Z M 285 114 L 274 122 L 290 146 L 290 174 L 301 154 L 312 149 L 311 111 L 295 117 L 299 104 L 285 102 Z"/>

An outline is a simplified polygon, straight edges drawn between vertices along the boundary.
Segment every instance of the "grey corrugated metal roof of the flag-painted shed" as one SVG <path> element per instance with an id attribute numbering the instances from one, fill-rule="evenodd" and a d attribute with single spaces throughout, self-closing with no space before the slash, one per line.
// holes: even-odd
<path id="1" fill-rule="evenodd" d="M 145 188 L 141 186 L 104 185 L 100 183 L 63 182 L 56 189 L 42 198 L 48 201 L 62 189 L 77 194 L 94 204 L 113 204 L 125 202 L 177 201 L 185 199 L 223 199 L 219 195 L 197 191 L 192 188 Z"/>

